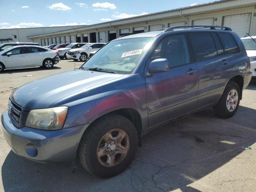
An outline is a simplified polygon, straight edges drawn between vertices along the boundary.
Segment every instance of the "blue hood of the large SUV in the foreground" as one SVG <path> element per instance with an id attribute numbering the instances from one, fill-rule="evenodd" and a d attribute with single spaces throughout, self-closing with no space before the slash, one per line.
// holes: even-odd
<path id="1" fill-rule="evenodd" d="M 48 108 L 54 102 L 66 96 L 122 76 L 124 75 L 88 70 L 70 70 L 21 86 L 14 90 L 11 99 L 22 106 L 23 111 Z"/>

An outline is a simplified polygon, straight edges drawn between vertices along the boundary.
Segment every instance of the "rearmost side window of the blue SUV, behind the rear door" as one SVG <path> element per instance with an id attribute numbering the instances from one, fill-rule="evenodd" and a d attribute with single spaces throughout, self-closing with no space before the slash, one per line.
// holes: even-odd
<path id="1" fill-rule="evenodd" d="M 231 34 L 228 33 L 218 33 L 220 40 L 224 46 L 224 50 L 227 54 L 234 54 L 237 53 L 238 46 Z"/>

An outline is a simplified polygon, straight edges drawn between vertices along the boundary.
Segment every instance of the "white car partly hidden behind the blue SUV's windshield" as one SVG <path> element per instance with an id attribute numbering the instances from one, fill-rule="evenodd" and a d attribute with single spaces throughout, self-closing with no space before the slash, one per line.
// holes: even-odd
<path id="1" fill-rule="evenodd" d="M 67 55 L 72 56 L 73 60 L 86 61 L 90 52 L 97 51 L 102 48 L 106 43 L 88 43 L 81 48 L 70 50 Z"/>

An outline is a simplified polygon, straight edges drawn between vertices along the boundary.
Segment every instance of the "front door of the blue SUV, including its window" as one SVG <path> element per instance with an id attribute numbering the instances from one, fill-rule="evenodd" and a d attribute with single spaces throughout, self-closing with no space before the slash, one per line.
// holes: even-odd
<path id="1" fill-rule="evenodd" d="M 157 58 L 168 59 L 170 70 L 146 77 L 150 126 L 195 110 L 198 102 L 197 67 L 191 62 L 186 36 L 164 38 L 149 62 Z"/>

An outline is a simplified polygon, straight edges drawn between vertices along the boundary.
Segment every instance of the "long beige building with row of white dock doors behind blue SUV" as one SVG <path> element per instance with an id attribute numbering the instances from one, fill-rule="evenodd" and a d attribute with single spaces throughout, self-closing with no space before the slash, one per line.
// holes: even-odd
<path id="1" fill-rule="evenodd" d="M 148 32 L 170 26 L 230 26 L 240 37 L 256 35 L 256 0 L 221 0 L 153 14 L 60 31 L 27 35 L 42 45 L 71 42 L 108 42 L 122 34 Z"/>

